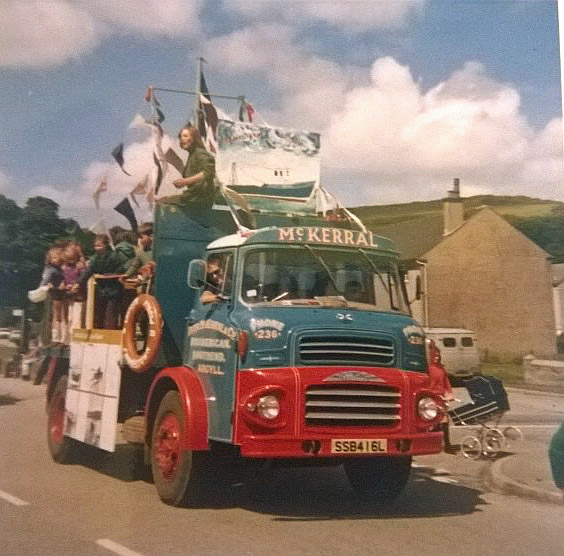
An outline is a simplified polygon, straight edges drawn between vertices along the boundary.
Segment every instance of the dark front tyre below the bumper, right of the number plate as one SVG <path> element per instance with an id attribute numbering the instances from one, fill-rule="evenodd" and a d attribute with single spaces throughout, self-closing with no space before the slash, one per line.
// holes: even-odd
<path id="1" fill-rule="evenodd" d="M 355 458 L 345 462 L 345 472 L 359 498 L 389 501 L 405 488 L 411 459 L 411 456 Z"/>

